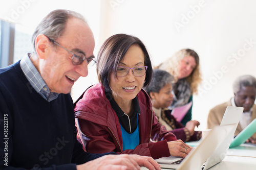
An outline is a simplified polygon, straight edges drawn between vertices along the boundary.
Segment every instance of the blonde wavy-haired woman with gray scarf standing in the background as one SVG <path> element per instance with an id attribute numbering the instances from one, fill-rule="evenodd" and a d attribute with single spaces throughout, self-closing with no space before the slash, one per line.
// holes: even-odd
<path id="1" fill-rule="evenodd" d="M 197 94 L 198 85 L 201 82 L 198 54 L 189 48 L 175 53 L 158 66 L 159 69 L 169 72 L 175 78 L 173 85 L 174 100 L 169 109 L 183 106 L 193 101 L 193 94 Z M 181 123 L 186 123 L 192 118 L 192 106 L 182 119 Z"/>

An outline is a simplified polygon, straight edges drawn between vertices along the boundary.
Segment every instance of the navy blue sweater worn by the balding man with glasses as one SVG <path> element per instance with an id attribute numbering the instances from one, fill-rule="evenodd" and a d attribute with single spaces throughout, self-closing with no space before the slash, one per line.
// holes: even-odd
<path id="1" fill-rule="evenodd" d="M 0 131 L 0 169 L 76 169 L 104 155 L 82 150 L 70 94 L 47 102 L 19 62 L 0 69 Z"/>

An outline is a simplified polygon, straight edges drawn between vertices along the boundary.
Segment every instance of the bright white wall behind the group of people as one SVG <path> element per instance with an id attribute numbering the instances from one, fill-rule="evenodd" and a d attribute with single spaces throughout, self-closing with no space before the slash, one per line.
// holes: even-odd
<path id="1" fill-rule="evenodd" d="M 11 5 L 15 1 L 16 5 Z M 15 1 L 1 2 L 0 17 L 11 18 L 11 12 L 22 6 L 21 2 L 25 0 Z M 200 120 L 201 129 L 206 127 L 209 109 L 232 96 L 232 82 L 236 77 L 244 74 L 256 76 L 256 2 L 253 0 L 26 1 L 31 2 L 30 6 L 15 21 L 30 28 L 53 9 L 82 13 L 94 32 L 95 55 L 103 41 L 117 33 L 140 38 L 154 65 L 181 48 L 195 50 L 200 57 L 203 82 L 200 94 L 194 96 L 193 118 Z M 94 67 L 89 70 L 87 78 L 75 83 L 73 100 L 95 83 Z"/>

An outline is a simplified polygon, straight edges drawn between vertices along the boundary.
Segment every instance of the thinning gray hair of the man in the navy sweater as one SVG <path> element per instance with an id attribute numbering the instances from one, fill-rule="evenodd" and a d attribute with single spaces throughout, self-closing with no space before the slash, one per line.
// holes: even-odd
<path id="1" fill-rule="evenodd" d="M 87 23 L 84 17 L 70 10 L 54 10 L 44 17 L 36 27 L 32 36 L 32 43 L 35 51 L 35 39 L 39 34 L 44 34 L 52 40 L 59 38 L 65 31 L 66 23 L 70 18 L 78 18 Z"/>

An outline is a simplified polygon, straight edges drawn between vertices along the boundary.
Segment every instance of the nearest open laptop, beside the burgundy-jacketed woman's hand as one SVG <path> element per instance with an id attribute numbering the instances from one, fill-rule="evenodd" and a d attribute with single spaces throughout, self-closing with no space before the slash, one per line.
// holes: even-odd
<path id="1" fill-rule="evenodd" d="M 189 154 L 181 161 L 180 164 L 175 163 L 178 157 L 162 157 L 156 159 L 161 168 L 179 169 L 179 170 L 197 170 L 202 169 L 202 164 L 209 156 L 223 143 L 226 136 L 229 136 L 236 124 L 217 126 L 212 129 L 209 134 L 201 139 L 197 148 L 193 148 Z M 181 158 L 179 158 L 181 159 Z"/>

